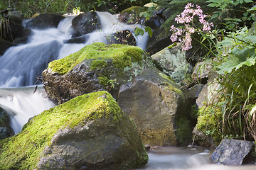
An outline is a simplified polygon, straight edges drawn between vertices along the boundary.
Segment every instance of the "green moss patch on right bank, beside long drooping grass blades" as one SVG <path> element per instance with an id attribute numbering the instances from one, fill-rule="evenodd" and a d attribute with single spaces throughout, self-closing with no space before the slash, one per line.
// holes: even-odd
<path id="1" fill-rule="evenodd" d="M 219 143 L 222 139 L 222 113 L 218 106 L 203 106 L 198 110 L 196 128 L 213 137 Z"/>

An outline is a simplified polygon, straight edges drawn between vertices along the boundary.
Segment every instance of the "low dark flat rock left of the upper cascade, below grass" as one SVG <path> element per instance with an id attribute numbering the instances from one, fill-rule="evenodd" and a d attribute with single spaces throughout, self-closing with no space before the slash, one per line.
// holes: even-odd
<path id="1" fill-rule="evenodd" d="M 26 23 L 26 28 L 37 28 L 37 29 L 46 29 L 46 28 L 57 28 L 58 23 L 64 17 L 59 14 L 53 13 L 42 13 L 36 18 L 33 18 L 31 21 Z"/>

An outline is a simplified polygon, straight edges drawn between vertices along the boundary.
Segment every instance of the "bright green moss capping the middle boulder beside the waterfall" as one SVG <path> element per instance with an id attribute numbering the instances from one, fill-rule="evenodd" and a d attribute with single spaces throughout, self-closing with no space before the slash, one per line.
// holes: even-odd
<path id="1" fill-rule="evenodd" d="M 67 57 L 55 60 L 48 64 L 48 69 L 59 74 L 66 74 L 82 60 L 99 60 L 94 63 L 94 68 L 99 66 L 100 60 L 112 59 L 114 67 L 124 69 L 131 67 L 132 62 L 141 62 L 143 50 L 139 47 L 122 44 L 105 45 L 103 42 L 95 42 L 86 45 L 80 51 Z"/>

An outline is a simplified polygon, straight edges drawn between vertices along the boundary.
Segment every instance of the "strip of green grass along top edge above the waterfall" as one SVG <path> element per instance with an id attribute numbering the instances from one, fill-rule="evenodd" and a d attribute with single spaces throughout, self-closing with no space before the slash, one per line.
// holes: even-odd
<path id="1" fill-rule="evenodd" d="M 149 0 L 11 0 L 11 8 L 21 11 L 26 18 L 34 13 L 72 13 L 74 8 L 80 7 L 80 11 L 113 11 L 119 12 L 129 6 L 143 6 Z M 8 7 L 8 1 L 0 2 L 0 9 Z"/>

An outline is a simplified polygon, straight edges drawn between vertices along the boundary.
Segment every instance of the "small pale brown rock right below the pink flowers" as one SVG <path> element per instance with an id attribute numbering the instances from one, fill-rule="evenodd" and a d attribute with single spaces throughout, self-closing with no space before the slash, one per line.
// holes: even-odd
<path id="1" fill-rule="evenodd" d="M 194 81 L 207 81 L 208 76 L 213 69 L 213 64 L 210 62 L 198 62 L 196 63 L 196 66 L 193 69 L 193 73 L 191 75 L 191 78 Z M 205 80 L 204 80 L 205 79 Z"/>

